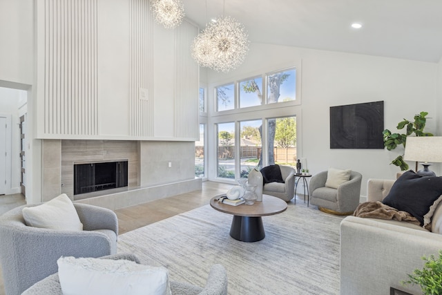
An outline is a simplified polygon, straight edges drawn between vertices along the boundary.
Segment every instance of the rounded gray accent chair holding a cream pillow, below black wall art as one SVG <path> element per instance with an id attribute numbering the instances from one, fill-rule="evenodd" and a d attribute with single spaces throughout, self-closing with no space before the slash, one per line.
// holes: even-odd
<path id="1" fill-rule="evenodd" d="M 328 171 L 322 171 L 311 177 L 309 183 L 310 204 L 318 209 L 337 215 L 350 215 L 358 207 L 361 198 L 362 175 L 356 171 L 350 174 L 350 180 L 340 184 L 338 189 L 325 187 Z"/>

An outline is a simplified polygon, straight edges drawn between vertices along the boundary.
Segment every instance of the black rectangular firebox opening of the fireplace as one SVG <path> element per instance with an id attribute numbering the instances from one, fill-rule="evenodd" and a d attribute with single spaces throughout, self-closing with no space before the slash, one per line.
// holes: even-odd
<path id="1" fill-rule="evenodd" d="M 74 163 L 74 195 L 128 186 L 128 160 Z"/>

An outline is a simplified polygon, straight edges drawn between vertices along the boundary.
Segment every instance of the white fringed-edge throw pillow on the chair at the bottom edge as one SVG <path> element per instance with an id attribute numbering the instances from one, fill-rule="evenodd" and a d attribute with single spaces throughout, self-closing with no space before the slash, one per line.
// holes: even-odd
<path id="1" fill-rule="evenodd" d="M 169 271 L 130 260 L 61 257 L 57 260 L 64 295 L 171 295 Z"/>

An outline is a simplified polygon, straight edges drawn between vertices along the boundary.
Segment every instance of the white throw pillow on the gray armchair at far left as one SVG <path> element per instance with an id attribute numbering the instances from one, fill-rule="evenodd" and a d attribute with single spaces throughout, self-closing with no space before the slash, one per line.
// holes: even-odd
<path id="1" fill-rule="evenodd" d="M 23 208 L 23 218 L 30 227 L 81 231 L 83 224 L 66 193 L 35 207 Z"/>

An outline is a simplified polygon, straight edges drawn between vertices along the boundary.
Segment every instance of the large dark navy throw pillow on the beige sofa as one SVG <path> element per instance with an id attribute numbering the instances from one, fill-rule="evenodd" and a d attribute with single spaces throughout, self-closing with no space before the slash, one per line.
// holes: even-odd
<path id="1" fill-rule="evenodd" d="M 441 177 L 421 176 L 410 170 L 394 182 L 390 193 L 382 202 L 410 213 L 423 225 L 423 216 L 430 211 L 430 206 L 441 195 Z"/>

